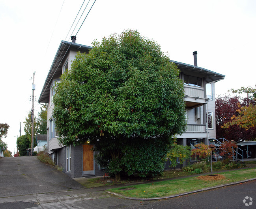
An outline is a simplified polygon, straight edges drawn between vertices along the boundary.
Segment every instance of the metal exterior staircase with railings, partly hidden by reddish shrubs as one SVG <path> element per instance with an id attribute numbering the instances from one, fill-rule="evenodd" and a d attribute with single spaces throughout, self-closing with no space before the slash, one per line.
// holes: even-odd
<path id="1" fill-rule="evenodd" d="M 215 147 L 215 152 L 219 152 L 220 151 L 220 146 L 223 145 L 223 143 L 225 141 L 228 141 L 225 138 L 220 138 L 220 139 L 209 139 L 209 145 L 214 145 Z M 239 152 L 237 152 L 237 150 L 240 150 L 242 152 L 242 154 L 240 154 Z M 243 162 L 243 150 L 241 150 L 240 148 L 236 148 L 236 150 L 233 148 L 233 153 L 228 153 L 229 155 L 233 156 L 233 161 L 242 161 Z M 238 158 L 239 157 L 239 158 Z"/>

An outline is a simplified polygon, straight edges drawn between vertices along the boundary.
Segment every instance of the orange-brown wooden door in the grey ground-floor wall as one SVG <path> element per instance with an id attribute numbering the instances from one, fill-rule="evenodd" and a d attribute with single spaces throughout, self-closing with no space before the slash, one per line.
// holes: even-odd
<path id="1" fill-rule="evenodd" d="M 83 175 L 94 175 L 93 145 L 83 145 Z"/>

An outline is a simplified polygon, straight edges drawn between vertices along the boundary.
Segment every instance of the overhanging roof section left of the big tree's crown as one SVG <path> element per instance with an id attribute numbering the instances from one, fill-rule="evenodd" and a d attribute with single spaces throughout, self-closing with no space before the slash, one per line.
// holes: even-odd
<path id="1" fill-rule="evenodd" d="M 52 66 L 50 67 L 49 73 L 45 80 L 45 84 L 43 85 L 43 90 L 40 94 L 38 102 L 41 102 L 41 103 L 49 102 L 50 85 L 52 81 L 54 81 L 54 79 L 58 79 L 62 74 L 62 66 L 64 64 L 63 62 L 65 61 L 64 58 L 68 55 L 69 51 L 73 50 L 73 51 L 80 51 L 84 53 L 84 52 L 88 52 L 90 49 L 92 49 L 91 46 L 85 46 L 82 44 L 77 44 L 74 42 L 67 42 L 62 40 L 57 50 L 57 53 L 54 57 L 54 60 L 52 62 Z"/>

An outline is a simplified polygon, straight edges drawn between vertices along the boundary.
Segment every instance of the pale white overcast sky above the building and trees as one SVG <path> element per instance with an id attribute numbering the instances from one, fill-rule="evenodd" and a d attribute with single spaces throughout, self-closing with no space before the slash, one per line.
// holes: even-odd
<path id="1" fill-rule="evenodd" d="M 93 40 L 112 33 L 138 30 L 155 40 L 171 60 L 194 64 L 192 52 L 198 51 L 198 66 L 226 75 L 215 84 L 215 96 L 255 86 L 255 0 L 93 2 L 0 0 L 0 123 L 10 126 L 3 141 L 13 154 L 20 122 L 23 135 L 23 122 L 32 108 L 33 72 L 37 116 L 37 99 L 54 56 L 61 40 L 70 41 L 71 35 L 77 36 L 78 44 L 92 46 Z"/>

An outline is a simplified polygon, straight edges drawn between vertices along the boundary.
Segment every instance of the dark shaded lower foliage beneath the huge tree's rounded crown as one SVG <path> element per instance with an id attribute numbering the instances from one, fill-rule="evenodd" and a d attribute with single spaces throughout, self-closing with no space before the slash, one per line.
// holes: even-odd
<path id="1" fill-rule="evenodd" d="M 117 138 L 115 141 L 97 143 L 95 150 L 99 151 L 96 160 L 101 167 L 107 168 L 110 174 L 121 172 L 123 175 L 138 174 L 140 177 L 157 176 L 164 170 L 166 152 L 170 140 L 153 138 Z M 112 158 L 116 150 L 118 157 Z"/>

